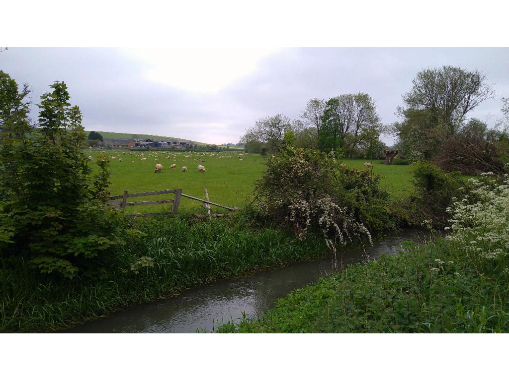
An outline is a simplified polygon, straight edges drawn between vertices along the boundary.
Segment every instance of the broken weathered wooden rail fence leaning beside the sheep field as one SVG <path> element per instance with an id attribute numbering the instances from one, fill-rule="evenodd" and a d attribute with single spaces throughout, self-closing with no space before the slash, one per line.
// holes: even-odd
<path id="1" fill-rule="evenodd" d="M 175 194 L 175 198 L 173 200 L 159 200 L 159 201 L 135 201 L 135 202 L 128 202 L 128 198 L 132 197 L 144 197 L 144 196 L 152 196 L 152 195 L 165 195 L 165 194 Z M 116 208 L 121 208 L 122 213 L 125 214 L 125 208 L 128 206 L 143 206 L 143 205 L 158 205 L 158 204 L 173 204 L 173 208 L 171 212 L 157 212 L 157 213 L 136 213 L 136 214 L 126 214 L 127 217 L 138 217 L 138 216 L 153 216 L 157 214 L 175 214 L 177 213 L 179 209 L 179 203 L 181 197 L 186 197 L 191 200 L 195 201 L 201 201 L 203 202 L 204 206 L 208 209 L 209 215 L 210 215 L 210 205 L 219 206 L 224 209 L 228 210 L 237 210 L 238 208 L 230 208 L 228 206 L 216 204 L 214 202 L 211 202 L 208 200 L 208 193 L 207 190 L 205 190 L 205 193 L 207 195 L 207 200 L 203 200 L 194 196 L 185 195 L 182 193 L 182 189 L 166 189 L 166 190 L 156 190 L 155 192 L 145 192 L 145 193 L 133 193 L 129 194 L 127 190 L 124 190 L 124 194 L 120 196 L 111 196 L 109 198 L 110 201 L 108 201 L 108 205 Z M 112 200 L 118 200 L 122 199 L 122 201 L 112 201 Z"/>

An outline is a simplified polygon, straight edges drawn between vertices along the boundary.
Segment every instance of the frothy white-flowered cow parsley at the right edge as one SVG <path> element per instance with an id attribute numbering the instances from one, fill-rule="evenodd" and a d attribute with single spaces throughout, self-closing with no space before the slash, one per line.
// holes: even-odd
<path id="1" fill-rule="evenodd" d="M 482 176 L 483 180 L 467 181 L 463 199 L 453 199 L 447 209 L 453 218 L 446 229 L 448 239 L 467 253 L 495 260 L 509 253 L 509 176 L 493 177 L 492 172 Z"/>

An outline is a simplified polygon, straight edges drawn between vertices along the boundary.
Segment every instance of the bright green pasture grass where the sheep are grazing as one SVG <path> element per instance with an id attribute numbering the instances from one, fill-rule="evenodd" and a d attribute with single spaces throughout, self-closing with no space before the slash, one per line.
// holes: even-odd
<path id="1" fill-rule="evenodd" d="M 89 151 L 94 159 L 99 151 Z M 151 192 L 153 190 L 182 188 L 182 192 L 191 196 L 205 198 L 204 188 L 207 188 L 210 201 L 225 206 L 242 206 L 252 195 L 254 181 L 262 176 L 265 170 L 267 157 L 260 155 L 242 154 L 243 161 L 239 161 L 237 154 L 211 154 L 204 152 L 175 152 L 176 157 L 168 161 L 166 156 L 172 152 L 145 152 L 143 157 L 147 161 L 140 161 L 140 152 L 132 154 L 124 150 L 107 151 L 111 160 L 111 194 L 121 195 L 124 190 L 129 193 Z M 123 154 L 125 153 L 125 154 Z M 152 154 L 152 156 L 149 156 Z M 197 162 L 195 158 L 202 158 L 205 162 Z M 217 158 L 221 157 L 221 158 Z M 122 163 L 119 162 L 122 158 Z M 154 159 L 158 158 L 158 161 Z M 351 168 L 364 169 L 362 159 L 344 159 L 343 162 Z M 154 173 L 155 165 L 161 164 L 161 173 Z M 177 165 L 175 169 L 169 169 L 172 164 Z M 198 165 L 206 168 L 206 173 L 199 173 L 196 170 Z M 182 166 L 187 167 L 187 172 L 181 172 Z M 383 161 L 373 162 L 373 172 L 383 175 L 382 185 L 395 195 L 403 195 L 411 190 L 409 166 L 385 166 Z M 136 201 L 164 200 L 168 195 L 149 196 L 136 198 Z M 173 198 L 169 195 L 169 198 Z M 182 199 L 181 207 L 203 207 L 203 204 L 190 199 Z M 130 207 L 127 213 L 149 213 L 155 211 L 170 210 L 171 204 Z M 216 212 L 223 212 L 225 209 L 212 207 Z"/>

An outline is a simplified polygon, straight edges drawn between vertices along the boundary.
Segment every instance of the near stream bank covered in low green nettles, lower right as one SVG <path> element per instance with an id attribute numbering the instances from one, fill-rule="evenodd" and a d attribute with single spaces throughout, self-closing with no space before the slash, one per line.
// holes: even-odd
<path id="1" fill-rule="evenodd" d="M 280 299 L 259 320 L 216 332 L 509 331 L 509 261 L 472 256 L 443 237 L 366 265 L 349 265 Z"/>

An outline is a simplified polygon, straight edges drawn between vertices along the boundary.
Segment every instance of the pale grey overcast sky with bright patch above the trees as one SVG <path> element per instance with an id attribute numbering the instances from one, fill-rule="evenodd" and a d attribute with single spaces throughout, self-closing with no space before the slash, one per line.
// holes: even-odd
<path id="1" fill-rule="evenodd" d="M 307 100 L 367 92 L 384 123 L 397 121 L 415 74 L 455 65 L 486 74 L 497 98 L 469 116 L 500 117 L 509 97 L 508 48 L 208 49 L 9 48 L 0 69 L 29 83 L 33 102 L 65 81 L 86 130 L 236 143 L 260 117 L 299 118 Z M 37 111 L 37 106 L 33 111 Z M 391 137 L 383 137 L 387 144 Z"/>

